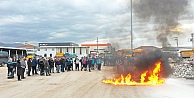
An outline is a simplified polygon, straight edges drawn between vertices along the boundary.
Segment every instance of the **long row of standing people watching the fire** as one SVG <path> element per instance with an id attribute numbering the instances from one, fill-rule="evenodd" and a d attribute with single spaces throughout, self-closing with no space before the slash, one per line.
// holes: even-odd
<path id="1" fill-rule="evenodd" d="M 50 76 L 51 73 L 69 72 L 69 71 L 89 71 L 99 70 L 101 71 L 102 59 L 100 57 L 60 57 L 60 58 L 26 58 L 22 57 L 16 59 L 13 57 L 8 60 L 8 78 L 14 78 L 14 74 L 17 74 L 18 81 L 25 79 L 25 72 L 27 76 L 38 75 Z M 75 69 L 74 69 L 75 66 Z M 81 67 L 81 68 L 80 68 Z M 39 72 L 39 73 L 38 73 Z"/>

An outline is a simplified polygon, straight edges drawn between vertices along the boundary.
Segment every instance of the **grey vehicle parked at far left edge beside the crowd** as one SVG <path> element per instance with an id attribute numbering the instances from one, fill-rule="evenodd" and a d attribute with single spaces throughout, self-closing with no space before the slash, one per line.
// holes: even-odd
<path id="1" fill-rule="evenodd" d="M 0 51 L 0 66 L 4 66 L 8 61 L 8 52 Z"/>

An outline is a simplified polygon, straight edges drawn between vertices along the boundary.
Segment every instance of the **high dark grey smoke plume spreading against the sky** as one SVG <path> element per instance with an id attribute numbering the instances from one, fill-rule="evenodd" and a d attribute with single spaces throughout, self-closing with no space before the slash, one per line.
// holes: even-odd
<path id="1" fill-rule="evenodd" d="M 177 28 L 181 16 L 187 12 L 188 0 L 134 0 L 135 15 L 145 22 L 154 22 L 157 41 L 167 46 L 168 37 L 182 33 Z"/>

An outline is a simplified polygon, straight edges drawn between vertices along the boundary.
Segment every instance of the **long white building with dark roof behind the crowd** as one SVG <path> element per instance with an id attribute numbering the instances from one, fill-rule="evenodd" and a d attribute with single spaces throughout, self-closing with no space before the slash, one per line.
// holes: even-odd
<path id="1" fill-rule="evenodd" d="M 75 43 L 39 43 L 37 55 L 44 57 L 55 57 L 57 53 L 76 54 L 86 56 L 89 54 L 89 47 L 79 46 Z"/>

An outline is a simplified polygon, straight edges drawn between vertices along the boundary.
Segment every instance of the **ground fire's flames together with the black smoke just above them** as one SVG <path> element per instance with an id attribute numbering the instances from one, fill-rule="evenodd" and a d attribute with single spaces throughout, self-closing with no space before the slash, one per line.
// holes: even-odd
<path id="1" fill-rule="evenodd" d="M 161 50 L 144 50 L 136 57 L 118 58 L 118 77 L 102 80 L 113 85 L 157 85 L 164 83 L 171 73 L 168 57 Z"/>

